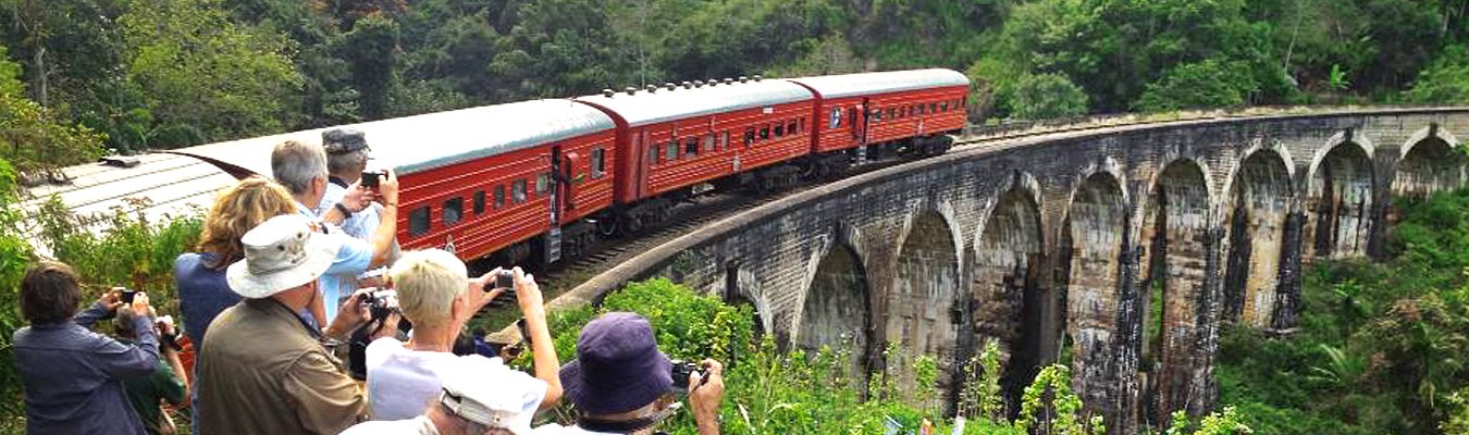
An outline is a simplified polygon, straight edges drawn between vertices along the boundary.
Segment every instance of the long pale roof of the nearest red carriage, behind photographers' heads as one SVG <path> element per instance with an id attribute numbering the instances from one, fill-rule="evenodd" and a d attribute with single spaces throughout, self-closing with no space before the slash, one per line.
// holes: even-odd
<path id="1" fill-rule="evenodd" d="M 532 100 L 394 118 L 333 128 L 367 137 L 373 162 L 413 173 L 467 159 L 523 150 L 544 143 L 613 129 L 601 110 L 570 100 Z M 270 150 L 286 140 L 322 143 L 329 128 L 206 144 L 173 153 L 204 159 L 235 176 L 270 175 Z"/>

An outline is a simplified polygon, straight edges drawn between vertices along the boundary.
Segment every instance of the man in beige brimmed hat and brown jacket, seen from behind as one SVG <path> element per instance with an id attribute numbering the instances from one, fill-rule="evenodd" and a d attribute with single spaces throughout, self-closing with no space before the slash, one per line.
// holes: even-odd
<path id="1" fill-rule="evenodd" d="M 245 259 L 229 266 L 244 297 L 210 323 L 198 356 L 201 434 L 338 434 L 367 419 L 361 388 L 297 316 L 320 297 L 317 278 L 339 241 L 300 215 L 270 218 L 239 240 Z M 367 317 L 353 295 L 325 338 L 342 339 Z"/>

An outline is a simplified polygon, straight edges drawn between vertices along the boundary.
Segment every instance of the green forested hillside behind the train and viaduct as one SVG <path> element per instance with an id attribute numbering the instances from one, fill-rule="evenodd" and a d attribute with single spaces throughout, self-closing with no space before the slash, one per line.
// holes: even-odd
<path id="1" fill-rule="evenodd" d="M 0 148 L 26 172 L 100 147 L 908 68 L 967 71 L 975 121 L 1465 103 L 1466 13 L 1469 0 L 0 0 Z"/>

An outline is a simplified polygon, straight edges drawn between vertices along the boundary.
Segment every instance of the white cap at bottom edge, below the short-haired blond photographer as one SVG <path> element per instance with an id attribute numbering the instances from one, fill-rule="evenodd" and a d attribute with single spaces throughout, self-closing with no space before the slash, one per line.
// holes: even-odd
<path id="1" fill-rule="evenodd" d="M 441 370 L 439 404 L 450 413 L 486 428 L 530 434 L 530 420 L 546 394 L 545 381 L 477 354 L 458 357 Z"/>

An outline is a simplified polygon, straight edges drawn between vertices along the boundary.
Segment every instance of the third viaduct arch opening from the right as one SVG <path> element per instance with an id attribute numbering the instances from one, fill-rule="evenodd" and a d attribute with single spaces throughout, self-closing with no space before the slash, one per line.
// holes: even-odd
<path id="1" fill-rule="evenodd" d="M 1224 317 L 1271 328 L 1279 269 L 1285 256 L 1285 220 L 1291 212 L 1290 166 L 1279 150 L 1246 154 L 1230 181 L 1225 231 L 1230 240 L 1224 275 Z"/>

